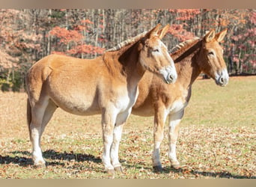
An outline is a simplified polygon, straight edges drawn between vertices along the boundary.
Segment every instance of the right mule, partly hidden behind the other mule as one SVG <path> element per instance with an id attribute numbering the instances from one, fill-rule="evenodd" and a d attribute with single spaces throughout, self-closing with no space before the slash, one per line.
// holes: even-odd
<path id="1" fill-rule="evenodd" d="M 139 95 L 132 108 L 132 114 L 154 116 L 153 126 L 153 168 L 162 170 L 159 157 L 160 144 L 163 139 L 165 120 L 168 118 L 168 159 L 174 168 L 180 167 L 176 156 L 176 143 L 180 120 L 189 103 L 192 84 L 201 72 L 213 78 L 217 85 L 228 84 L 228 71 L 223 59 L 223 50 L 219 42 L 227 30 L 218 34 L 214 30 L 202 39 L 188 40 L 174 47 L 171 58 L 177 70 L 177 81 L 165 85 L 150 72 L 144 73 L 138 83 Z"/>

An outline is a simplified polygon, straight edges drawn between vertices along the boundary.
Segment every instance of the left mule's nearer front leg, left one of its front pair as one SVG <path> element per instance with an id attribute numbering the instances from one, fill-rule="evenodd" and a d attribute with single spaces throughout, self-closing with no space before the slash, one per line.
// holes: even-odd
<path id="1" fill-rule="evenodd" d="M 107 173 L 114 174 L 114 167 L 111 163 L 110 154 L 113 142 L 113 129 L 115 125 L 115 114 L 107 111 L 102 115 L 102 128 L 103 128 L 103 165 Z"/>

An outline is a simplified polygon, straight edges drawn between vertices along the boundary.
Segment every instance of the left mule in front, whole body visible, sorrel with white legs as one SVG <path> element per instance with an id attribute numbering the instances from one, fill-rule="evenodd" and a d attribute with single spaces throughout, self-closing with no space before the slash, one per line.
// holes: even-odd
<path id="1" fill-rule="evenodd" d="M 166 83 L 175 82 L 174 61 L 156 25 L 94 59 L 49 55 L 37 61 L 26 75 L 27 120 L 32 159 L 45 166 L 40 138 L 56 108 L 78 115 L 101 114 L 103 165 L 109 173 L 121 171 L 118 147 L 122 128 L 138 97 L 138 82 L 148 70 Z"/>

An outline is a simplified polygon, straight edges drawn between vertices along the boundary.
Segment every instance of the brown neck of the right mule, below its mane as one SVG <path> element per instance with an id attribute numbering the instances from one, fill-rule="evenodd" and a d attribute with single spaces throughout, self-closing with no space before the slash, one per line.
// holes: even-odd
<path id="1" fill-rule="evenodd" d="M 201 69 L 198 66 L 198 55 L 201 48 L 201 40 L 192 45 L 182 54 L 171 55 L 174 58 L 175 67 L 177 70 L 178 80 L 182 85 L 191 87 L 195 79 L 198 78 L 201 73 Z"/>

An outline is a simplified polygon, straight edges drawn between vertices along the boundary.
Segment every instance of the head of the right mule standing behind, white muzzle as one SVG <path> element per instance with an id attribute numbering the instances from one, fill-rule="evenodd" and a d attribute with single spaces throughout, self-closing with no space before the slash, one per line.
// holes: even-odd
<path id="1" fill-rule="evenodd" d="M 215 79 L 217 85 L 225 86 L 228 84 L 228 70 L 223 59 L 223 49 L 219 42 L 223 40 L 227 29 L 215 34 L 212 30 L 208 32 L 202 40 L 202 47 L 199 53 L 198 64 L 201 70 L 208 76 Z"/>

